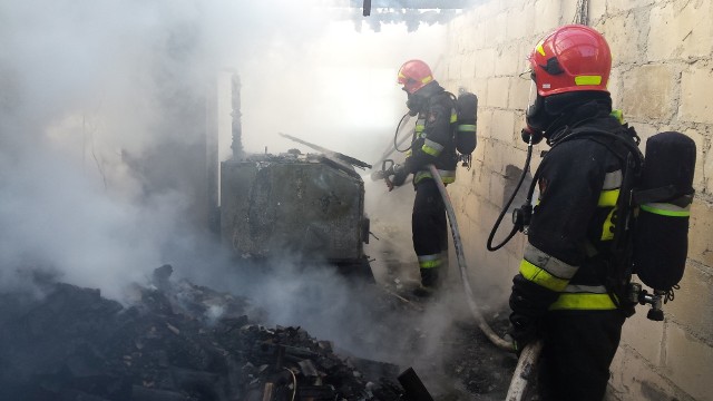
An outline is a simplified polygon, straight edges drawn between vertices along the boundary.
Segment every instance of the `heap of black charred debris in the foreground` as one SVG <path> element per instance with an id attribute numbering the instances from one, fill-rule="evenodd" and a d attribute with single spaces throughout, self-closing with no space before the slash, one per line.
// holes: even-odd
<path id="1" fill-rule="evenodd" d="M 127 306 L 55 283 L 0 294 L 0 400 L 398 400 L 395 366 L 338 356 L 300 327 L 265 327 L 250 302 L 170 266 Z M 359 369 L 356 368 L 359 365 Z"/>

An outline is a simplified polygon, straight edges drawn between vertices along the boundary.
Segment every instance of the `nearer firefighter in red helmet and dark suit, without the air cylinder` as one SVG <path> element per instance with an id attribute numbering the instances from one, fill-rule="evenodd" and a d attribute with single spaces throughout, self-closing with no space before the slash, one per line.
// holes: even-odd
<path id="1" fill-rule="evenodd" d="M 612 55 L 599 32 L 560 27 L 528 60 L 524 137 L 544 137 L 550 149 L 534 176 L 539 199 L 512 280 L 510 335 L 518 350 L 543 339 L 543 399 L 599 401 L 633 313 L 625 302 L 631 273 L 619 268 L 612 242 L 631 151 L 623 141 L 638 137 L 612 110 Z"/>

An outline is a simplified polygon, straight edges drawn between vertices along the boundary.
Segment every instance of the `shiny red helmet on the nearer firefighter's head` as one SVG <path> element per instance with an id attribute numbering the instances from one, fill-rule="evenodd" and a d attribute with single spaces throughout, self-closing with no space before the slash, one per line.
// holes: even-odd
<path id="1" fill-rule="evenodd" d="M 558 28 L 533 49 L 528 60 L 539 96 L 607 91 L 612 52 L 602 33 L 589 27 Z"/>

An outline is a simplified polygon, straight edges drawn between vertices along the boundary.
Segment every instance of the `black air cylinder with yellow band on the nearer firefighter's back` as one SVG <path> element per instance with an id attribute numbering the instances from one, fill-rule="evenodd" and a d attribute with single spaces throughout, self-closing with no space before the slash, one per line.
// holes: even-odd
<path id="1" fill-rule="evenodd" d="M 683 277 L 695 153 L 695 143 L 681 133 L 656 134 L 646 141 L 642 177 L 633 194 L 638 205 L 633 262 L 634 273 L 654 290 L 667 292 Z"/>

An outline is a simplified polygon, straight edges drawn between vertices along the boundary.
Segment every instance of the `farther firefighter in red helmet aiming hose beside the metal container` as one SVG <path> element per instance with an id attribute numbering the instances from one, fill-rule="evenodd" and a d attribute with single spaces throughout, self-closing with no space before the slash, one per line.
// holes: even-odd
<path id="1" fill-rule="evenodd" d="M 428 169 L 432 164 L 443 184 L 456 180 L 457 155 L 452 129 L 456 121 L 453 98 L 434 79 L 421 60 L 406 61 L 398 82 L 407 92 L 411 116 L 418 116 L 410 150 L 401 165 L 393 166 L 389 190 L 403 185 L 413 174 L 416 199 L 411 215 L 413 250 L 419 262 L 421 286 L 416 295 L 430 295 L 442 281 L 442 265 L 448 253 L 446 206 Z"/>

